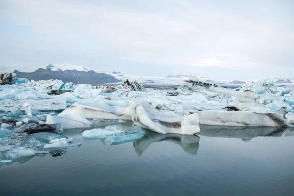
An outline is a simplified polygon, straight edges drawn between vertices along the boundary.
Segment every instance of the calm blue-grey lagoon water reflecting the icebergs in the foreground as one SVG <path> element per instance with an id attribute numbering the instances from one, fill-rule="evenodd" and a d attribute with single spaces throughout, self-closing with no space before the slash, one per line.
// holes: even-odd
<path id="1" fill-rule="evenodd" d="M 64 132 L 82 145 L 61 156 L 0 167 L 1 196 L 294 195 L 294 130 L 203 126 L 121 145 L 81 132 Z"/>

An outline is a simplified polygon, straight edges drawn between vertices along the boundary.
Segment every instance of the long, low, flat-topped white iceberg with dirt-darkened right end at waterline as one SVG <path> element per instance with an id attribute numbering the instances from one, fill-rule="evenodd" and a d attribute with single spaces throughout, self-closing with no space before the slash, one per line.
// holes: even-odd
<path id="1" fill-rule="evenodd" d="M 251 111 L 203 110 L 198 112 L 199 123 L 219 126 L 286 126 L 282 114 Z"/>

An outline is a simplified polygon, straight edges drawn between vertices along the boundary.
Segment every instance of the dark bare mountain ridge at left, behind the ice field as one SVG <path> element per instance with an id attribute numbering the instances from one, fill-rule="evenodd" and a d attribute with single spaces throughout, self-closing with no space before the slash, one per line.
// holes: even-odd
<path id="1" fill-rule="evenodd" d="M 50 64 L 49 64 L 50 65 Z M 120 82 L 112 75 L 106 73 L 96 73 L 94 71 L 77 71 L 77 70 L 61 70 L 57 68 L 57 71 L 52 71 L 51 66 L 47 66 L 47 69 L 39 68 L 34 72 L 19 72 L 15 70 L 13 73 L 17 74 L 17 77 L 27 78 L 28 80 L 49 80 L 49 79 L 61 79 L 63 82 L 73 82 L 74 84 L 104 84 Z"/>

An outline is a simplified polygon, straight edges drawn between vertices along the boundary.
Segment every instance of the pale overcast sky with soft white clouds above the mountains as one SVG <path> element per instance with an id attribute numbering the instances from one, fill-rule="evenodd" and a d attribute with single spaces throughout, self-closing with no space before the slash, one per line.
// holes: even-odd
<path id="1" fill-rule="evenodd" d="M 0 0 L 0 66 L 294 78 L 293 0 Z"/>

